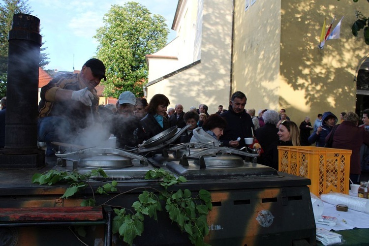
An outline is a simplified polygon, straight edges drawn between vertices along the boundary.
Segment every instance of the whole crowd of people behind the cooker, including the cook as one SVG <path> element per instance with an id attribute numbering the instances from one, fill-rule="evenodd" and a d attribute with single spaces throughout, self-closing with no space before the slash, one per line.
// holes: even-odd
<path id="1" fill-rule="evenodd" d="M 232 94 L 227 109 L 219 105 L 214 114 L 208 113 L 206 104 L 190 107 L 187 112 L 182 104 L 168 108 L 170 101 L 164 94 L 155 94 L 148 102 L 123 92 L 116 105 L 101 106 L 95 87 L 102 79 L 106 80 L 103 62 L 90 59 L 79 74 L 60 75 L 41 89 L 37 137 L 46 143 L 46 156 L 55 155 L 55 142 L 91 146 L 112 134 L 117 148 L 131 149 L 172 126 L 191 125 L 177 144 L 202 142 L 242 149 L 258 143 L 258 163 L 278 169 L 277 146 L 327 147 L 332 140 L 330 147 L 352 150 L 350 178 L 354 183 L 360 181 L 362 170 L 369 170 L 369 109 L 364 110 L 362 125 L 353 112 L 342 112 L 337 124 L 338 118 L 327 111 L 318 114 L 313 125 L 305 117 L 298 126 L 285 109 L 279 113 L 259 110 L 256 116 L 255 109 L 245 109 L 247 98 L 239 91 Z M 0 104 L 0 117 L 4 118 L 6 98 Z M 4 145 L 1 134 L 0 148 Z M 254 138 L 254 143 L 246 144 L 245 138 Z"/>

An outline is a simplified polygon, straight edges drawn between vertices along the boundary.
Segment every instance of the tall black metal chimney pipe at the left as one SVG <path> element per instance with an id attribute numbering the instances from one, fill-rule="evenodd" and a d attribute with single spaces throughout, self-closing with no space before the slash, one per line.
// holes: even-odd
<path id="1" fill-rule="evenodd" d="M 37 148 L 40 20 L 14 14 L 8 41 L 5 146 L 0 167 L 35 168 L 45 163 L 44 152 Z"/>

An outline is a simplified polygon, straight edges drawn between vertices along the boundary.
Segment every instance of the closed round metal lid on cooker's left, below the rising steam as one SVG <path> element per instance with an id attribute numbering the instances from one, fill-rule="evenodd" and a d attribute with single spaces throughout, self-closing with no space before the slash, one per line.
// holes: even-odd
<path id="1" fill-rule="evenodd" d="M 80 167 L 91 168 L 123 168 L 133 166 L 131 159 L 115 154 L 99 154 L 82 158 L 78 161 Z"/>

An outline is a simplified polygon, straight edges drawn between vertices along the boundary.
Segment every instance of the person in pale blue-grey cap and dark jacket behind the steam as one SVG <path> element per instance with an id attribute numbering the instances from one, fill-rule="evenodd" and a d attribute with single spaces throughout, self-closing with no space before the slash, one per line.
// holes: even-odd
<path id="1" fill-rule="evenodd" d="M 144 141 L 145 133 L 140 118 L 133 114 L 136 97 L 132 92 L 122 92 L 118 110 L 106 122 L 111 134 L 116 136 L 116 147 L 131 149 Z"/>

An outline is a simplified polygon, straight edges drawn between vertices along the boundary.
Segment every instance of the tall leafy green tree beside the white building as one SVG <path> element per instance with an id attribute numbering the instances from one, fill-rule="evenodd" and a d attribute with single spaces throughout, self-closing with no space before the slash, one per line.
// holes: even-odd
<path id="1" fill-rule="evenodd" d="M 148 75 L 145 56 L 166 44 L 169 30 L 164 17 L 137 2 L 127 2 L 112 5 L 103 22 L 94 38 L 99 42 L 97 58 L 107 69 L 104 95 L 118 98 L 130 91 L 142 96 Z"/>

